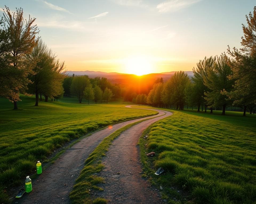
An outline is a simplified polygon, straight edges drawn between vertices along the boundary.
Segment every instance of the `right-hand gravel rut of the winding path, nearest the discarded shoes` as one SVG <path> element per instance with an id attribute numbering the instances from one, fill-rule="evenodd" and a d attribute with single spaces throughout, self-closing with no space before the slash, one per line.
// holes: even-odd
<path id="1" fill-rule="evenodd" d="M 134 125 L 114 140 L 102 161 L 105 168 L 99 176 L 106 183 L 101 185 L 104 191 L 98 196 L 115 204 L 162 202 L 158 194 L 159 188 L 150 188 L 149 182 L 141 178 L 142 167 L 137 146 L 139 137 L 149 125 L 172 114 L 168 111 L 160 112 L 165 112 L 165 115 Z"/>

